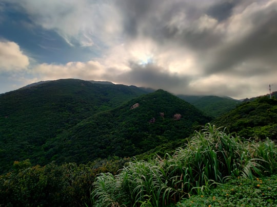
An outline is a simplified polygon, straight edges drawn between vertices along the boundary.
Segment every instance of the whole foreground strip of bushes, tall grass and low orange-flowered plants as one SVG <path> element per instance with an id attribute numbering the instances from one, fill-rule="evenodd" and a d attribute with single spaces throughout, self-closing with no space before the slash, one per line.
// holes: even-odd
<path id="1" fill-rule="evenodd" d="M 226 133 L 224 128 L 207 124 L 172 154 L 155 156 L 148 162 L 129 161 L 114 158 L 86 165 L 51 163 L 44 167 L 31 167 L 28 160 L 15 162 L 12 172 L 0 176 L 0 204 L 105 207 L 277 204 L 276 176 L 264 177 L 277 170 L 277 145 L 271 140 L 244 140 Z"/>

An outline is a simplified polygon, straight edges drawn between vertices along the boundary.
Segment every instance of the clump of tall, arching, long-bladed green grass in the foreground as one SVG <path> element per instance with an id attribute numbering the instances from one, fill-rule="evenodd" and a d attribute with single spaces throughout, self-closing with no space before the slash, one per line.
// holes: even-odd
<path id="1" fill-rule="evenodd" d="M 101 174 L 92 198 L 95 206 L 166 206 L 230 177 L 271 174 L 276 160 L 273 141 L 243 140 L 207 124 L 173 155 L 134 160 L 115 176 Z"/>

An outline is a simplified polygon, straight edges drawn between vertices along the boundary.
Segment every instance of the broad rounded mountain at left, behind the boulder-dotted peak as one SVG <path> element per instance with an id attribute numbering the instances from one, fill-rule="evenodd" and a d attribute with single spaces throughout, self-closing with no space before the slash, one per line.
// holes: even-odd
<path id="1" fill-rule="evenodd" d="M 143 94 L 146 91 L 135 86 L 64 79 L 0 95 L 0 173 L 14 160 L 49 162 L 42 157 L 42 145 L 49 139 L 97 112 Z"/>

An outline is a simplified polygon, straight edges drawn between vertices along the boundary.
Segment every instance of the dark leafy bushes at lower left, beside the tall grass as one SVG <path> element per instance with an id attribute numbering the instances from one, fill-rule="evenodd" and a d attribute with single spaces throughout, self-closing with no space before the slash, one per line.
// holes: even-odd
<path id="1" fill-rule="evenodd" d="M 0 176 L 0 206 L 90 205 L 91 185 L 99 173 L 116 174 L 129 159 L 98 159 L 86 165 L 68 163 L 33 166 L 14 162 L 13 171 Z"/>

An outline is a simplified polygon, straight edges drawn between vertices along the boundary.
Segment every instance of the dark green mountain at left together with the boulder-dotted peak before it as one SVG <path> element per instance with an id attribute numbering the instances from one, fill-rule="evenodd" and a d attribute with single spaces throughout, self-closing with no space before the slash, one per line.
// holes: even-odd
<path id="1" fill-rule="evenodd" d="M 45 165 L 133 156 L 184 139 L 210 120 L 166 91 L 148 90 L 63 79 L 0 95 L 0 173 L 14 160 Z"/>

